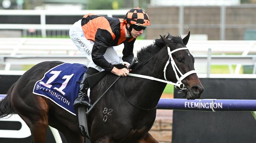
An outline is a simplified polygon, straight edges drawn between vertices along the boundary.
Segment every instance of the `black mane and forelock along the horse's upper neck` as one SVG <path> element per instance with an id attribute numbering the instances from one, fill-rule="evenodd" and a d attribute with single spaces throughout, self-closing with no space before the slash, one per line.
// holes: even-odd
<path id="1" fill-rule="evenodd" d="M 163 36 L 171 42 L 171 47 L 174 47 L 177 43 L 185 46 L 181 36 L 172 36 L 168 33 L 167 36 Z M 155 42 L 147 47 L 143 47 L 140 51 L 137 52 L 137 61 L 141 63 L 147 62 L 152 56 L 159 52 L 166 44 L 161 38 L 155 39 Z"/>

